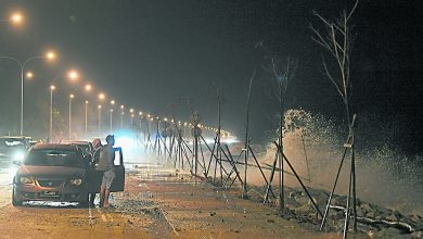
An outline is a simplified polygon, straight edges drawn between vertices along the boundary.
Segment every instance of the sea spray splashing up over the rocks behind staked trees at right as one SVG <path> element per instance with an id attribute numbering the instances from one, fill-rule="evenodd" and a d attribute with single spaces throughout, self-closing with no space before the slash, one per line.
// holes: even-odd
<path id="1" fill-rule="evenodd" d="M 407 158 L 394 147 L 397 135 L 395 131 L 400 130 L 400 125 L 370 122 L 374 117 L 369 115 L 362 118 L 366 124 L 362 123 L 355 131 L 358 197 L 405 214 L 423 215 L 423 173 L 422 165 L 419 165 L 422 159 Z M 339 167 L 346 136 L 346 126 L 320 114 L 304 110 L 286 111 L 284 152 L 297 173 L 303 178 L 311 179 L 305 181 L 307 186 L 331 189 Z M 269 143 L 267 153 L 260 161 L 271 163 L 274 153 L 274 146 Z M 349 159 L 347 154 L 335 191 L 338 194 L 346 194 L 348 190 Z M 286 176 L 286 183 L 289 186 L 298 186 L 291 176 Z"/>

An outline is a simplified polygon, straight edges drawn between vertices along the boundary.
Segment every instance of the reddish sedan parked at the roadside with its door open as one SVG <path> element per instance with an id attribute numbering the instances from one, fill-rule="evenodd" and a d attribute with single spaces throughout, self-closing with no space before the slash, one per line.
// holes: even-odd
<path id="1" fill-rule="evenodd" d="M 20 164 L 13 178 L 12 204 L 22 205 L 25 201 L 60 201 L 88 204 L 88 193 L 98 192 L 102 173 L 87 162 L 90 154 L 75 144 L 35 144 Z M 116 177 L 111 191 L 124 191 L 125 167 L 121 151 Z"/>

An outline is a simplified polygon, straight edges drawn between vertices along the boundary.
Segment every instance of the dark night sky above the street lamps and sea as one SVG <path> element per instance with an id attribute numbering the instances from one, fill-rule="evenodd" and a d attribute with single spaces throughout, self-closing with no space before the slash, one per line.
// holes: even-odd
<path id="1" fill-rule="evenodd" d="M 176 116 L 187 121 L 190 106 L 181 99 L 188 98 L 209 125 L 216 123 L 215 89 L 221 88 L 223 127 L 242 135 L 248 78 L 264 59 L 254 47 L 259 41 L 278 58 L 298 62 L 289 106 L 342 113 L 335 90 L 321 73 L 323 51 L 311 40 L 308 26 L 319 24 L 312 10 L 338 16 L 351 5 L 352 1 L 337 0 L 2 0 L 2 18 L 17 9 L 26 15 L 26 23 L 22 29 L 1 23 L 0 55 L 23 61 L 47 48 L 60 54 L 54 65 L 41 61 L 28 65 L 43 77 L 26 83 L 29 116 L 40 114 L 48 102 L 46 78 L 76 67 L 84 80 L 90 79 L 119 104 L 162 115 L 175 104 Z M 379 109 L 406 115 L 412 124 L 420 122 L 422 10 L 419 1 L 360 1 L 352 18 L 357 112 Z M 1 131 L 16 130 L 16 64 L 0 61 L 0 79 Z M 86 97 L 63 81 L 57 105 L 62 104 L 66 118 L 69 88 L 77 93 L 76 103 L 82 104 Z M 256 138 L 278 123 L 277 104 L 267 96 L 272 90 L 270 81 L 270 75 L 261 71 L 253 87 Z"/>

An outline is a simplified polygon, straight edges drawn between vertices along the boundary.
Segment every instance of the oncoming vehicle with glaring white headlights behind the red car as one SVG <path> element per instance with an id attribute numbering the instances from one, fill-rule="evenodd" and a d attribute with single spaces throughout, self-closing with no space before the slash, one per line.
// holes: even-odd
<path id="1" fill-rule="evenodd" d="M 25 137 L 0 137 L 0 162 L 22 161 L 30 144 Z"/>

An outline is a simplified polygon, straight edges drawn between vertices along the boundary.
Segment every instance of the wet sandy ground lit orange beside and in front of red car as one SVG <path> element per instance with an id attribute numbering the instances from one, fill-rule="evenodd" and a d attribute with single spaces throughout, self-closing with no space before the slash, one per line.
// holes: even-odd
<path id="1" fill-rule="evenodd" d="M 342 238 L 279 216 L 175 168 L 127 165 L 112 207 L 69 203 L 11 205 L 11 173 L 0 172 L 0 238 Z M 352 237 L 351 237 L 352 238 Z M 359 238 L 359 237 L 355 237 Z"/>

